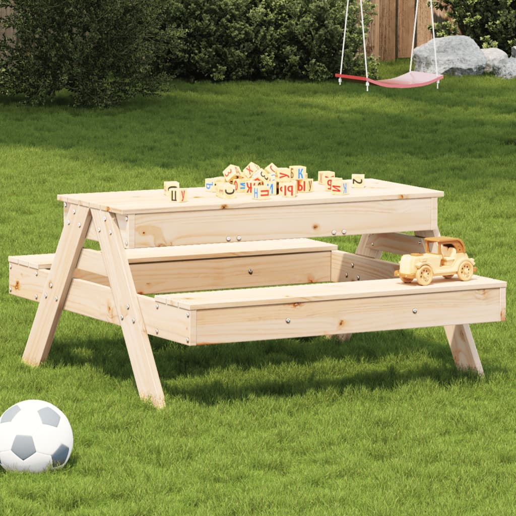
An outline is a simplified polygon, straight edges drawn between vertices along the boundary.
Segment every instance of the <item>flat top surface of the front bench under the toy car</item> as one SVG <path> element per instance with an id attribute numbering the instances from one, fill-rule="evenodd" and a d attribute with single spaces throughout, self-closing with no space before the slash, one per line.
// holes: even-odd
<path id="1" fill-rule="evenodd" d="M 428 293 L 476 292 L 482 297 L 489 289 L 506 288 L 505 281 L 473 276 L 470 281 L 435 278 L 426 286 L 403 283 L 398 278 L 349 281 L 339 283 L 312 283 L 275 287 L 244 288 L 230 291 L 192 292 L 155 296 L 156 301 L 187 310 L 232 308 L 239 305 L 263 307 L 266 305 L 303 304 L 310 301 L 362 299 L 375 297 L 421 296 Z M 499 315 L 499 314 L 498 314 Z"/>

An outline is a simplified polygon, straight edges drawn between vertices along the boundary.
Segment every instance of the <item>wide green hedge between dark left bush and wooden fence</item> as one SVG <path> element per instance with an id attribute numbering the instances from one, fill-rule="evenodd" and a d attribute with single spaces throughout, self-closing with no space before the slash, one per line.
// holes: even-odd
<path id="1" fill-rule="evenodd" d="M 167 25 L 184 32 L 167 70 L 192 79 L 330 78 L 340 67 L 345 8 L 345 0 L 169 0 Z M 373 14 L 366 0 L 366 27 Z M 364 69 L 359 15 L 351 2 L 347 73 Z M 377 60 L 368 65 L 375 77 Z"/>

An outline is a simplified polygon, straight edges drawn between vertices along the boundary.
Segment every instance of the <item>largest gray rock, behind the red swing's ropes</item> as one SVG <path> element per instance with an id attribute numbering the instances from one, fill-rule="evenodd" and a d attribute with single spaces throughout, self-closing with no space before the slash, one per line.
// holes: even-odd
<path id="1" fill-rule="evenodd" d="M 467 36 L 446 36 L 436 39 L 438 71 L 450 75 L 481 75 L 486 56 L 475 41 Z M 414 70 L 435 72 L 433 39 L 414 50 Z"/>

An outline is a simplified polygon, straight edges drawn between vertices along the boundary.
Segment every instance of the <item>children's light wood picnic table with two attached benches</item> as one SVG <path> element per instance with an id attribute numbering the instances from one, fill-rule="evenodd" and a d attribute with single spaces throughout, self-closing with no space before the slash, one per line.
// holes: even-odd
<path id="1" fill-rule="evenodd" d="M 56 252 L 9 257 L 10 292 L 39 302 L 25 362 L 45 360 L 64 309 L 122 328 L 138 392 L 158 407 L 149 334 L 195 346 L 444 326 L 457 366 L 483 375 L 469 324 L 505 320 L 506 283 L 405 284 L 381 259 L 439 236 L 442 191 L 375 179 L 347 196 L 318 184 L 292 199 L 188 190 L 185 203 L 162 189 L 57 196 Z M 362 235 L 356 252 L 313 240 L 345 235 Z"/>

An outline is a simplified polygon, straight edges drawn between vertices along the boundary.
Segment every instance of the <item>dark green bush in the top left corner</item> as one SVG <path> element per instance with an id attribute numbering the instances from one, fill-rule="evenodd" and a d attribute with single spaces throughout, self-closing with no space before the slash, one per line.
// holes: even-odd
<path id="1" fill-rule="evenodd" d="M 153 94 L 174 26 L 159 0 L 0 0 L 16 40 L 0 41 L 0 93 L 44 104 L 66 88 L 74 105 L 106 107 Z"/>

